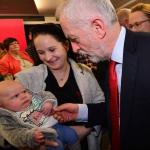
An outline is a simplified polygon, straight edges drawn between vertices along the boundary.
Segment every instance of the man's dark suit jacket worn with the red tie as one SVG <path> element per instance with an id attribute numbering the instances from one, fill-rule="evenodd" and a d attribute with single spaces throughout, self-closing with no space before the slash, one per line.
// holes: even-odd
<path id="1" fill-rule="evenodd" d="M 104 85 L 105 89 L 107 81 Z M 107 99 L 108 93 L 105 95 Z M 109 107 L 109 100 L 107 102 Z M 88 105 L 90 124 L 104 121 L 103 107 L 101 104 Z M 121 150 L 150 150 L 149 33 L 133 33 L 128 30 L 126 33 L 121 79 L 120 137 Z"/>

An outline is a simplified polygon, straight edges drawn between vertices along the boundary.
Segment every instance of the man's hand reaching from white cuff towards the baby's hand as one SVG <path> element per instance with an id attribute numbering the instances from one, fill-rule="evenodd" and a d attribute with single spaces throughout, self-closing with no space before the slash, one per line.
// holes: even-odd
<path id="1" fill-rule="evenodd" d="M 77 118 L 78 110 L 78 104 L 62 104 L 54 108 L 54 118 L 59 122 L 73 121 Z"/>

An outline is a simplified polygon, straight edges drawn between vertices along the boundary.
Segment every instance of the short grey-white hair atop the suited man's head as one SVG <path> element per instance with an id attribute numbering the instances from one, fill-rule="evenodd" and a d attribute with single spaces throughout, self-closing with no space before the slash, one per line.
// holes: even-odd
<path id="1" fill-rule="evenodd" d="M 76 24 L 99 16 L 108 25 L 117 21 L 116 11 L 110 0 L 65 0 L 56 10 L 56 14 L 57 18 L 64 15 Z"/>

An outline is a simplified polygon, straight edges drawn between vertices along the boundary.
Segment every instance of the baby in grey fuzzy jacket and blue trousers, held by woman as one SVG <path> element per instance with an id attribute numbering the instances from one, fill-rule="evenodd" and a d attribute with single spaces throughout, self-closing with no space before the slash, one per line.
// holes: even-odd
<path id="1" fill-rule="evenodd" d="M 35 94 L 17 81 L 0 82 L 1 136 L 19 148 L 44 145 L 48 150 L 63 150 L 64 144 L 75 144 L 78 141 L 76 132 L 58 124 L 51 115 L 56 105 L 55 96 L 48 91 Z M 50 147 L 55 141 L 59 146 Z"/>

